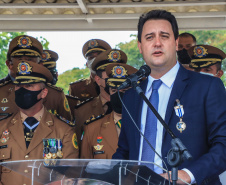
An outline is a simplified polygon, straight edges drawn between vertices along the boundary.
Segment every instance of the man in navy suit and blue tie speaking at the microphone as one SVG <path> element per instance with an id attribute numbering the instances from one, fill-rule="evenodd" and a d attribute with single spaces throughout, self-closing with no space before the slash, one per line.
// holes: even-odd
<path id="1" fill-rule="evenodd" d="M 226 93 L 223 83 L 218 78 L 188 71 L 176 61 L 178 26 L 175 17 L 167 11 L 153 10 L 140 17 L 138 47 L 151 68 L 151 75 L 141 83 L 141 88 L 147 98 L 152 97 L 156 94 L 153 85 L 160 81 L 156 109 L 193 157 L 182 163 L 178 177 L 188 183 L 220 184 L 218 175 L 226 167 Z M 174 111 L 176 100 L 183 105 L 183 115 Z M 147 139 L 156 134 L 153 146 L 166 162 L 171 148 L 170 135 L 155 117 L 152 116 L 152 120 L 155 118 L 156 121 L 150 121 L 151 113 L 134 89 L 126 92 L 123 101 Z M 178 125 L 180 121 L 184 123 Z M 155 122 L 156 126 L 150 129 Z M 146 131 L 150 133 L 146 134 Z M 146 152 L 149 147 L 145 143 L 123 109 L 118 149 L 113 158 L 147 161 L 151 151 L 150 155 Z M 162 166 L 155 154 L 151 162 Z M 158 167 L 153 170 L 162 173 Z"/>

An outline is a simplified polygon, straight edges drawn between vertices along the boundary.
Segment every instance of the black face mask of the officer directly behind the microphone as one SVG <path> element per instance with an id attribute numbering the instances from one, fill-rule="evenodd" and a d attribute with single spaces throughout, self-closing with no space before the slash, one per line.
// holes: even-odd
<path id="1" fill-rule="evenodd" d="M 122 99 L 124 93 L 119 92 L 119 94 Z M 110 95 L 110 102 L 113 111 L 115 111 L 118 114 L 122 114 L 122 102 L 119 99 L 118 92 L 115 92 L 114 94 Z"/>

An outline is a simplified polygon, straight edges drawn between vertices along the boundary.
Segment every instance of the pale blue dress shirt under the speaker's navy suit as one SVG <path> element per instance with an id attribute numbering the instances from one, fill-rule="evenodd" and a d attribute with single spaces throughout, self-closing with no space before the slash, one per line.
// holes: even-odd
<path id="1" fill-rule="evenodd" d="M 160 78 L 160 80 L 162 81 L 161 86 L 158 89 L 158 93 L 159 93 L 159 105 L 158 105 L 158 113 L 160 114 L 160 116 L 163 118 L 163 120 L 165 120 L 165 115 L 166 115 L 166 109 L 167 109 L 167 105 L 169 102 L 169 97 L 173 88 L 173 84 L 174 81 L 176 79 L 176 75 L 178 73 L 178 70 L 180 68 L 179 63 L 177 62 L 176 65 L 170 70 L 168 71 L 164 76 L 162 76 Z M 154 80 L 153 77 L 149 76 L 148 77 L 148 84 L 147 84 L 147 89 L 145 92 L 145 96 L 149 99 L 149 97 L 151 96 L 152 93 L 152 83 Z M 146 125 L 146 117 L 147 117 L 147 104 L 143 101 L 143 107 L 142 107 L 142 113 L 141 113 L 141 132 L 144 134 L 145 132 L 145 125 Z M 176 123 L 175 123 L 176 124 Z M 157 134 L 156 134 L 156 147 L 155 150 L 156 152 L 161 156 L 161 149 L 162 149 L 162 138 L 163 137 L 163 126 L 160 123 L 160 121 L 157 121 Z M 139 160 L 141 161 L 141 156 L 142 156 L 142 150 L 143 150 L 143 137 L 141 136 L 140 138 L 140 151 L 139 151 Z M 162 160 L 155 154 L 155 158 L 154 158 L 154 163 L 156 163 L 159 166 L 163 166 L 162 165 Z M 187 169 L 183 169 L 185 170 L 189 176 L 191 177 L 191 179 L 194 181 L 194 176 L 192 175 L 192 173 L 187 170 Z M 161 168 L 159 168 L 158 166 L 154 165 L 154 171 L 158 174 L 163 173 L 163 170 Z"/>

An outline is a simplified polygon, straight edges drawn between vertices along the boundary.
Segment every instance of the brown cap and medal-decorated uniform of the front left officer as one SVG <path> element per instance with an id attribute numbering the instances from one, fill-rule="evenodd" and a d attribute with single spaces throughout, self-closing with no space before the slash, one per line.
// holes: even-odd
<path id="1" fill-rule="evenodd" d="M 52 80 L 51 73 L 40 64 L 30 61 L 21 61 L 14 64 L 14 70 L 18 70 L 14 84 L 46 83 Z M 29 78 L 27 78 L 29 77 Z M 23 112 L 16 112 L 0 122 L 0 160 L 2 162 L 14 160 L 44 159 L 47 157 L 44 151 L 44 139 L 55 142 L 55 153 L 48 153 L 48 159 L 56 158 L 78 158 L 77 137 L 74 128 L 65 124 L 64 119 L 55 117 L 49 113 L 45 107 L 34 115 L 36 118 L 36 128 L 27 133 L 27 116 Z M 48 160 L 45 160 L 48 164 Z M 21 171 L 31 173 L 31 169 L 26 166 L 20 167 Z M 2 167 L 2 184 L 31 184 L 31 180 L 18 173 Z"/>

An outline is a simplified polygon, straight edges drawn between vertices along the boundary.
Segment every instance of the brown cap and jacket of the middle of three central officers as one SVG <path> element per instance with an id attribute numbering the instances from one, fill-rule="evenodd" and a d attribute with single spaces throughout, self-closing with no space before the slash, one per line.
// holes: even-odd
<path id="1" fill-rule="evenodd" d="M 126 54 L 117 49 L 109 49 L 100 53 L 92 63 L 93 71 L 105 71 L 107 65 L 111 63 L 126 63 L 127 56 Z M 103 102 L 102 102 L 103 101 Z M 108 103 L 104 100 L 101 100 L 101 96 L 88 99 L 87 101 L 82 102 L 74 110 L 76 130 L 78 138 L 83 133 L 84 122 L 91 117 L 96 117 L 101 114 L 105 114 L 108 110 Z"/>

